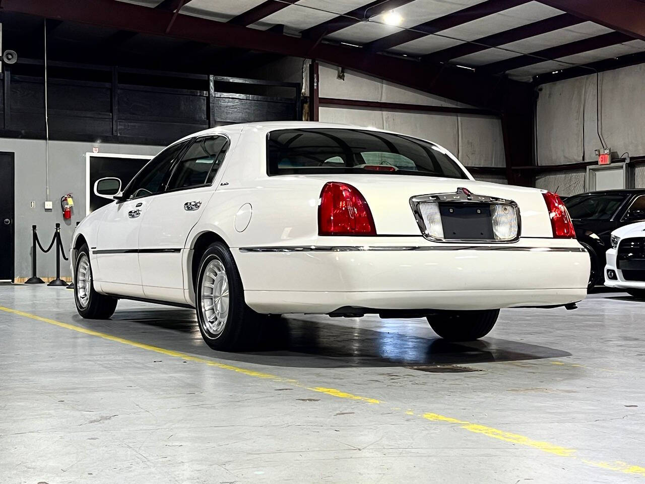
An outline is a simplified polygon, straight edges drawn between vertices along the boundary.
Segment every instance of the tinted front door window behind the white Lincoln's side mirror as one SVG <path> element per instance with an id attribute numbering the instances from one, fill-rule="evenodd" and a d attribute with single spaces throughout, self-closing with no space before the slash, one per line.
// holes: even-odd
<path id="1" fill-rule="evenodd" d="M 130 200 L 163 192 L 170 177 L 170 168 L 187 143 L 184 141 L 168 146 L 151 159 L 125 189 L 124 198 Z"/>

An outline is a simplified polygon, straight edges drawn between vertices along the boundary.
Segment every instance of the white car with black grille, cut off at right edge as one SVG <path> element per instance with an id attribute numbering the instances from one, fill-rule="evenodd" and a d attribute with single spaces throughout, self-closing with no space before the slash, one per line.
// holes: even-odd
<path id="1" fill-rule="evenodd" d="M 611 232 L 605 285 L 645 299 L 645 222 L 630 223 Z"/>

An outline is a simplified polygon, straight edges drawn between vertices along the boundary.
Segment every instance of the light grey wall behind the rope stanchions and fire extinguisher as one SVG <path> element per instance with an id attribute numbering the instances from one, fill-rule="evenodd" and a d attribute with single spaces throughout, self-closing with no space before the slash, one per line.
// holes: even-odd
<path id="1" fill-rule="evenodd" d="M 54 224 L 61 224 L 61 239 L 68 254 L 72 232 L 77 221 L 85 216 L 85 154 L 98 146 L 102 153 L 154 155 L 161 146 L 115 145 L 112 143 L 79 143 L 50 141 L 49 176 L 50 200 L 54 210 L 45 212 L 46 168 L 45 141 L 37 139 L 0 138 L 0 151 L 14 152 L 15 158 L 15 277 L 31 276 L 32 225 L 37 225 L 43 246 L 54 234 Z M 59 200 L 64 194 L 74 194 L 72 219 L 63 220 Z M 35 202 L 35 208 L 30 202 Z M 54 250 L 38 252 L 38 276 L 55 276 Z M 61 259 L 61 276 L 70 276 L 69 263 Z"/>

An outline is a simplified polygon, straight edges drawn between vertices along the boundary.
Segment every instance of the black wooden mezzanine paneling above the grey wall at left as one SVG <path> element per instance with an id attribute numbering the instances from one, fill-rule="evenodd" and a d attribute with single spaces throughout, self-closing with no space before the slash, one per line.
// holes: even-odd
<path id="1" fill-rule="evenodd" d="M 33 76 L 37 61 L 26 59 L 19 76 L 0 74 L 0 136 L 45 137 L 45 84 Z M 21 66 L 19 66 L 21 67 Z M 76 66 L 70 66 L 71 70 Z M 84 66 L 82 72 L 92 70 Z M 103 66 L 97 66 L 101 72 Z M 30 69 L 30 74 L 25 74 Z M 71 72 L 70 70 L 70 72 Z M 170 72 L 110 69 L 104 77 L 48 79 L 51 139 L 167 145 L 209 126 L 244 121 L 298 119 L 300 85 L 234 77 L 177 76 Z M 119 73 L 124 73 L 119 76 Z M 103 76 L 103 74 L 102 74 Z M 127 77 L 126 83 L 119 83 Z M 170 80 L 169 80 L 170 79 Z M 174 80 L 173 80 L 174 79 Z M 183 81 L 181 79 L 190 79 Z M 146 84 L 148 83 L 148 84 Z M 189 83 L 191 89 L 177 88 Z M 5 85 L 8 86 L 5 96 Z M 208 90 L 201 90 L 201 87 Z M 215 88 L 238 89 L 218 92 Z M 248 94 L 248 91 L 258 94 Z M 292 97 L 281 96 L 287 92 Z M 265 96 L 264 93 L 273 93 Z M 277 96 L 276 96 L 277 94 Z M 6 107 L 9 109 L 5 109 Z M 11 112 L 11 123 L 4 122 Z"/>

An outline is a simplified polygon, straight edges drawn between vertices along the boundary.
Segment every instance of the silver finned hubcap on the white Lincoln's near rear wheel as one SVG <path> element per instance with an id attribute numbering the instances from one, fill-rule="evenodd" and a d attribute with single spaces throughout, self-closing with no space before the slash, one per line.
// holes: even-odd
<path id="1" fill-rule="evenodd" d="M 201 283 L 201 313 L 204 326 L 213 336 L 219 336 L 228 319 L 228 277 L 221 261 L 208 263 Z"/>

